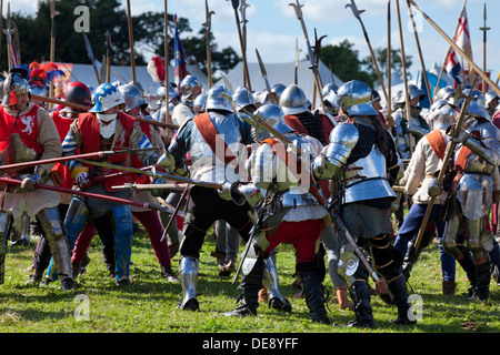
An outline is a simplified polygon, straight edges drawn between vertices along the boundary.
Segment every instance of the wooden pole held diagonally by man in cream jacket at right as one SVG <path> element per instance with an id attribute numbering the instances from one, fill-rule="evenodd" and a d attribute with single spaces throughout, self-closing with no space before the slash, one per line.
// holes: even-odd
<path id="1" fill-rule="evenodd" d="M 474 78 L 474 83 L 476 83 L 477 79 L 478 79 L 478 77 Z M 473 88 L 473 85 L 472 85 L 472 88 Z M 466 118 L 467 109 L 469 108 L 471 100 L 472 100 L 472 95 L 471 95 L 471 93 L 469 93 L 466 97 L 466 101 L 463 102 L 462 110 L 460 112 L 460 116 L 459 116 L 458 121 L 454 123 L 453 139 L 457 138 L 460 133 L 462 122 Z M 454 146 L 457 145 L 457 143 L 453 143 L 453 139 L 451 139 L 447 145 L 446 154 L 444 154 L 444 158 L 442 161 L 442 166 L 439 170 L 439 174 L 438 174 L 438 178 L 436 181 L 436 184 L 438 186 L 441 185 L 441 182 L 444 179 L 444 174 L 447 172 L 447 168 L 450 162 L 450 159 L 451 159 L 452 154 L 454 153 Z M 414 242 L 416 250 L 419 248 L 420 243 L 422 242 L 423 233 L 426 232 L 427 223 L 429 222 L 429 216 L 431 214 L 431 210 L 436 202 L 436 199 L 438 199 L 438 196 L 432 196 L 431 200 L 429 201 L 429 204 L 427 205 L 426 214 L 423 215 L 422 224 L 420 225 L 420 230 L 419 230 L 419 233 L 417 234 L 417 240 Z"/>

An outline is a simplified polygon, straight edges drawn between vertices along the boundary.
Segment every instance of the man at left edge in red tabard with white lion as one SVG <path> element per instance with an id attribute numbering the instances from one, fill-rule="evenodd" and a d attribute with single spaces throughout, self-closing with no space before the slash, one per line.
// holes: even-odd
<path id="1" fill-rule="evenodd" d="M 61 156 L 58 130 L 49 113 L 29 101 L 28 72 L 11 70 L 3 83 L 0 108 L 0 163 L 13 164 L 32 160 Z M 2 174 L 22 180 L 21 187 L 4 185 L 0 212 L 0 283 L 3 283 L 7 233 L 12 222 L 22 215 L 37 221 L 53 256 L 63 290 L 73 287 L 71 251 L 62 227 L 57 192 L 36 189 L 37 183 L 53 184 L 53 164 L 36 165 L 34 169 L 6 171 Z"/>

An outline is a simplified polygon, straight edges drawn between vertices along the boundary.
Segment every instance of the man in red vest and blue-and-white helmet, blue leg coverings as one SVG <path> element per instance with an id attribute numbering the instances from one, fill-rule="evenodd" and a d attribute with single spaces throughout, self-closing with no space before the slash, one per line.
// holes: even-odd
<path id="1" fill-rule="evenodd" d="M 120 148 L 146 149 L 137 151 L 137 158 L 144 165 L 156 165 L 160 156 L 154 151 L 148 150 L 152 148 L 152 144 L 142 132 L 139 122 L 120 112 L 120 105 L 123 103 L 123 95 L 114 85 L 110 83 L 99 85 L 96 89 L 94 106 L 88 113 L 80 114 L 71 123 L 62 143 L 63 154 L 74 155 L 77 150 L 80 153 L 89 153 Z M 127 166 L 128 154 L 113 154 L 107 162 Z M 97 181 L 98 176 L 106 176 L 119 171 L 83 164 L 77 160 L 66 162 L 66 164 L 81 190 L 122 199 L 131 197 L 130 191 L 112 189 L 113 185 L 133 182 L 130 175 L 117 174 L 113 178 Z M 94 178 L 94 182 L 92 182 L 92 178 Z M 108 213 L 112 214 L 114 222 L 116 281 L 118 285 L 128 285 L 130 283 L 133 234 L 130 205 L 114 202 L 103 203 L 97 199 L 83 200 L 73 195 L 64 219 L 64 227 L 68 231 L 68 237 L 74 241 L 88 220 L 101 217 Z"/>

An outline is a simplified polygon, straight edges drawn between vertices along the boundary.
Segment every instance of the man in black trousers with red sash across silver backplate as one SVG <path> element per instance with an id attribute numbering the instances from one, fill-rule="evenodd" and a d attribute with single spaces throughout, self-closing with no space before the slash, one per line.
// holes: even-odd
<path id="1" fill-rule="evenodd" d="M 231 104 L 232 95 L 226 87 L 212 87 L 207 92 L 206 112 L 188 120 L 168 149 L 176 160 L 176 166 L 182 165 L 189 152 L 190 173 L 196 181 L 224 185 L 248 181 L 244 162 L 247 145 L 252 143 L 251 130 L 248 123 L 232 113 Z M 199 308 L 196 287 L 200 248 L 208 229 L 216 221 L 223 220 L 247 242 L 253 225 L 249 211 L 248 204 L 237 205 L 228 193 L 220 194 L 200 185 L 191 189 L 183 231 L 186 237 L 180 247 L 179 278 L 183 291 L 180 308 Z M 277 277 L 272 281 L 277 282 Z M 276 301 L 287 307 L 278 285 L 273 284 L 268 290 L 271 288 L 277 290 Z"/>

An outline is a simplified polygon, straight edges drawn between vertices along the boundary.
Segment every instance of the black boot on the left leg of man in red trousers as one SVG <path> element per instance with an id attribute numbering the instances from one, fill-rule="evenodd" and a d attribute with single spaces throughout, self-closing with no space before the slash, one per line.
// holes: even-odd
<path id="1" fill-rule="evenodd" d="M 247 316 L 257 315 L 257 308 L 259 307 L 259 290 L 262 287 L 264 261 L 258 258 L 253 265 L 252 271 L 244 276 L 241 282 L 240 288 L 243 290 L 242 294 L 238 297 L 238 305 L 233 311 L 224 312 L 226 316 Z"/>

